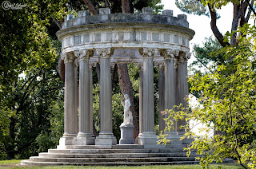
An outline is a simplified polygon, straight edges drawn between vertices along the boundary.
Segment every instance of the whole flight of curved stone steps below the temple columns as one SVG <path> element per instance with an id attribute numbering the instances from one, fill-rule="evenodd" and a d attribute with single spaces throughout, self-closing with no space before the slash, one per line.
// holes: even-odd
<path id="1" fill-rule="evenodd" d="M 50 166 L 50 165 L 79 165 L 79 166 L 118 166 L 118 165 L 171 165 L 198 164 L 197 156 L 192 152 L 186 156 L 183 147 L 186 144 L 156 145 L 144 147 L 142 145 L 115 146 L 67 146 L 66 149 L 50 149 L 39 153 L 38 156 L 22 160 L 22 165 Z"/>

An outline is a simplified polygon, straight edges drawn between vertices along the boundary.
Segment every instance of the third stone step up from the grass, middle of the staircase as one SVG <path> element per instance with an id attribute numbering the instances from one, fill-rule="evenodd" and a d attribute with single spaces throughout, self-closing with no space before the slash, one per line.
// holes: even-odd
<path id="1" fill-rule="evenodd" d="M 190 156 L 194 157 L 195 152 L 192 152 Z M 39 157 L 46 158 L 117 158 L 117 157 L 186 157 L 186 152 L 176 153 L 111 153 L 111 154 L 62 154 L 62 153 L 39 153 Z"/>

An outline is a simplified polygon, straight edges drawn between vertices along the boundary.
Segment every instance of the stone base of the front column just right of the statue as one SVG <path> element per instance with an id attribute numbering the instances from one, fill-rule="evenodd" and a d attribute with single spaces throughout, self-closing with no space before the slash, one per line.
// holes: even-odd
<path id="1" fill-rule="evenodd" d="M 143 132 L 141 136 L 138 136 L 139 145 L 157 145 L 158 140 L 155 132 Z"/>

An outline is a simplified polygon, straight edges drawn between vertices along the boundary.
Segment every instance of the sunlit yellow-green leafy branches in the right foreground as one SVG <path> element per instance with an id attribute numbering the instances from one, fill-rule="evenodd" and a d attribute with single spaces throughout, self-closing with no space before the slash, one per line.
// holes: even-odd
<path id="1" fill-rule="evenodd" d="M 205 124 L 202 131 L 206 134 L 195 137 L 186 128 L 186 137 L 194 136 L 195 140 L 188 150 L 188 155 L 197 150 L 200 164 L 208 168 L 214 160 L 231 157 L 238 159 L 243 166 L 247 163 L 250 168 L 255 168 L 256 163 L 256 69 L 255 69 L 255 36 L 256 27 L 248 26 L 239 29 L 247 37 L 240 37 L 237 46 L 226 47 L 214 52 L 215 55 L 223 54 L 224 63 L 217 64 L 214 71 L 206 74 L 196 73 L 190 76 L 190 90 L 201 92 L 198 97 L 200 104 L 191 108 L 179 105 L 178 112 L 169 110 L 170 116 L 166 118 L 168 127 L 172 128 L 174 120 L 198 120 Z M 192 105 L 190 105 L 192 107 Z M 210 138 L 210 129 L 215 130 Z M 161 135 L 162 142 L 168 140 Z"/>

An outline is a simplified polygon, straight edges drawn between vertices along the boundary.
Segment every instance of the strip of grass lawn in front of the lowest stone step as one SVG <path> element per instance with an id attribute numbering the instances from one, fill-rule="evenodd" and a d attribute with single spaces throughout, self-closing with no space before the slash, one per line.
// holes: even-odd
<path id="1" fill-rule="evenodd" d="M 138 167 L 128 167 L 128 166 L 118 166 L 118 167 L 92 167 L 92 166 L 56 166 L 56 167 L 26 167 L 26 166 L 22 166 L 20 165 L 21 163 L 21 159 L 13 159 L 13 160 L 4 160 L 4 161 L 0 161 L 0 168 L 29 168 L 29 169 L 50 169 L 50 168 L 54 168 L 54 169 L 60 169 L 60 168 L 94 168 L 94 169 L 111 169 L 111 168 L 118 168 L 118 169 L 125 169 L 125 168 L 137 168 L 137 169 L 197 169 L 197 168 L 201 168 L 199 165 L 163 165 L 163 166 L 138 166 Z M 237 168 L 241 168 L 240 165 L 238 164 L 211 164 L 210 168 L 218 168 L 218 166 L 222 166 L 222 169 L 237 169 Z"/>

